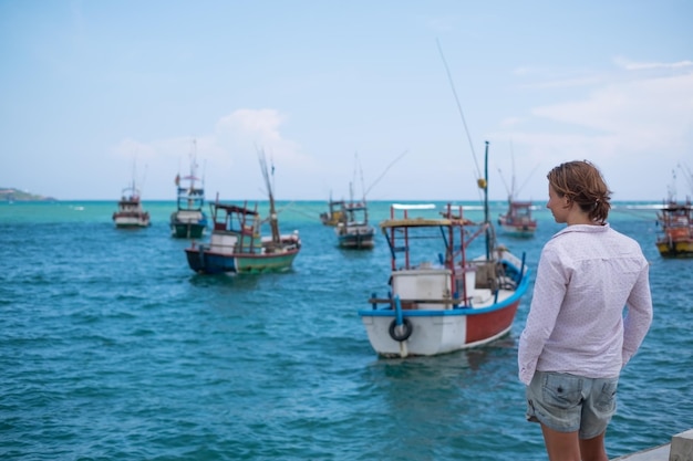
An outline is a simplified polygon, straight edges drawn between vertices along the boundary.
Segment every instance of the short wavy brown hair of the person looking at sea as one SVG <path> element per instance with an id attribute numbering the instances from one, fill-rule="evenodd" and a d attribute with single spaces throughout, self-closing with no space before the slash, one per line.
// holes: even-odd
<path id="1" fill-rule="evenodd" d="M 560 164 L 547 175 L 559 195 L 588 213 L 592 221 L 604 223 L 611 209 L 611 191 L 599 169 L 587 160 Z"/>

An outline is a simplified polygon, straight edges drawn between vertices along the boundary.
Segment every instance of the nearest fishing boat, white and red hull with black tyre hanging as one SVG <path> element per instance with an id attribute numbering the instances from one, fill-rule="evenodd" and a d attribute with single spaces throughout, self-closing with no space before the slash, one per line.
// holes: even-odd
<path id="1" fill-rule="evenodd" d="M 529 270 L 524 254 L 496 244 L 486 179 L 479 187 L 486 196 L 483 222 L 448 203 L 438 213 L 434 205 L 393 205 L 390 219 L 380 223 L 390 247 L 389 293 L 374 293 L 371 308 L 359 311 L 377 355 L 446 354 L 509 333 Z M 468 258 L 473 243 L 484 251 Z"/>

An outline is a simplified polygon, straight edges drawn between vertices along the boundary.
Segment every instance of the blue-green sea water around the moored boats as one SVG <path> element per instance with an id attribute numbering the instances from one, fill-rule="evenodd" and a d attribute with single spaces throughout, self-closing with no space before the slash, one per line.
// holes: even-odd
<path id="1" fill-rule="evenodd" d="M 660 258 L 654 205 L 610 216 L 651 261 L 655 310 L 622 374 L 611 458 L 693 428 L 693 260 Z M 0 459 L 546 459 L 517 380 L 530 295 L 487 347 L 382 359 L 356 314 L 386 290 L 382 235 L 340 250 L 325 202 L 283 202 L 282 231 L 303 241 L 291 272 L 204 276 L 169 237 L 175 203 L 144 206 L 153 226 L 128 231 L 115 201 L 0 205 Z M 501 238 L 532 270 L 560 229 L 536 216 L 535 238 Z"/>

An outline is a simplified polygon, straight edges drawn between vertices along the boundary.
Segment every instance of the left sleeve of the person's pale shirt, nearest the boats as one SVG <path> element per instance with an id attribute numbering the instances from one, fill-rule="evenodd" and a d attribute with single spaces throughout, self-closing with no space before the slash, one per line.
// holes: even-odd
<path id="1" fill-rule="evenodd" d="M 545 247 L 537 268 L 527 323 L 518 345 L 519 380 L 526 385 L 531 381 L 539 355 L 556 326 L 568 281 L 568 271 L 558 254 L 549 247 Z"/>

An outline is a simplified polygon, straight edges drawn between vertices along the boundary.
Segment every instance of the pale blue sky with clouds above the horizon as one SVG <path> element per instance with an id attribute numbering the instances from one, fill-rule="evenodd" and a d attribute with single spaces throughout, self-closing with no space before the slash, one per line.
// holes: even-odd
<path id="1" fill-rule="evenodd" d="M 662 200 L 693 167 L 692 18 L 689 0 L 0 0 L 0 186 L 116 200 L 134 169 L 144 200 L 173 200 L 195 139 L 208 198 L 266 198 L 263 149 L 279 200 L 350 182 L 475 200 L 488 140 L 492 199 L 513 160 L 517 196 L 544 201 L 550 168 L 589 159 L 614 200 Z"/>

